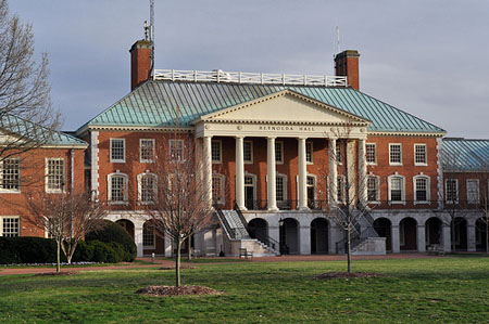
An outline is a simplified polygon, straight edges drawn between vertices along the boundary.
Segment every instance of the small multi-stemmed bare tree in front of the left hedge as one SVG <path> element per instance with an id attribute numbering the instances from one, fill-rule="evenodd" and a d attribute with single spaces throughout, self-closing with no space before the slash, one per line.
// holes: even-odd
<path id="1" fill-rule="evenodd" d="M 51 194 L 42 191 L 26 193 L 25 208 L 34 225 L 45 230 L 57 242 L 57 272 L 60 272 L 61 250 L 67 263 L 85 233 L 103 226 L 105 208 L 88 193 Z"/>

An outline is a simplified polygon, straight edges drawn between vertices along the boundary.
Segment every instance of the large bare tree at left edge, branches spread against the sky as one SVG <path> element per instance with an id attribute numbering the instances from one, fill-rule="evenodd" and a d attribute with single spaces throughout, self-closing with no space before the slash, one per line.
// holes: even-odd
<path id="1" fill-rule="evenodd" d="M 48 59 L 34 59 L 29 24 L 11 15 L 0 0 L 0 161 L 45 144 L 59 127 L 51 106 Z"/>

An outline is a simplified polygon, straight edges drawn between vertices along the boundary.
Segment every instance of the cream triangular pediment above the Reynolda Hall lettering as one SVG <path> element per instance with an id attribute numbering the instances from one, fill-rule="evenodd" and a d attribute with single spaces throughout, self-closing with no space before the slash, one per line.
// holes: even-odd
<path id="1" fill-rule="evenodd" d="M 369 124 L 369 120 L 291 90 L 284 90 L 202 116 L 201 120 L 211 122 L 313 122 L 365 126 Z"/>

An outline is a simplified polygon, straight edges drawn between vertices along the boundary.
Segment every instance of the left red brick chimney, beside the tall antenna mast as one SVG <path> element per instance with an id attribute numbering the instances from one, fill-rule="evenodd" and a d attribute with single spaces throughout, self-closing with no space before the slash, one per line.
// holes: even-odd
<path id="1" fill-rule="evenodd" d="M 149 40 L 138 40 L 130 47 L 130 90 L 150 78 L 152 47 Z"/>

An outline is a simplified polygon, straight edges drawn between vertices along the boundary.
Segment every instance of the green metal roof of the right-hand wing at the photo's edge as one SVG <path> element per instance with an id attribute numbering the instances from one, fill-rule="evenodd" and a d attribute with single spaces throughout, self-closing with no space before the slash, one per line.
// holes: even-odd
<path id="1" fill-rule="evenodd" d="M 489 170 L 489 140 L 443 139 L 443 170 Z"/>

